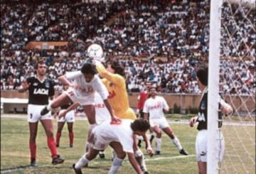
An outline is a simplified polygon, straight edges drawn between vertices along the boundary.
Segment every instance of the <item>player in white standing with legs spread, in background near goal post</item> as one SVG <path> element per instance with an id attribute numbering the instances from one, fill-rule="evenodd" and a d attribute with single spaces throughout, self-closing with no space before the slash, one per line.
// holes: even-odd
<path id="1" fill-rule="evenodd" d="M 188 153 L 182 148 L 180 141 L 174 135 L 174 131 L 164 116 L 164 111 L 169 112 L 166 100 L 164 97 L 157 96 L 155 87 L 151 87 L 149 92 L 150 98 L 146 99 L 143 112 L 144 119 L 147 120 L 149 117 L 149 124 L 156 133 L 156 155 L 159 155 L 161 151 L 161 130 L 163 130 L 171 138 L 176 148 L 178 148 L 179 153 L 187 156 Z"/>

